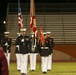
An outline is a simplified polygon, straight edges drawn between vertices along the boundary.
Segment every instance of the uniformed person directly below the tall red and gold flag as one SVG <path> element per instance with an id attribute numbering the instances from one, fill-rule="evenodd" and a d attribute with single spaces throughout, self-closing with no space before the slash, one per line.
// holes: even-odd
<path id="1" fill-rule="evenodd" d="M 36 57 L 38 54 L 38 40 L 35 39 L 35 34 L 31 33 L 31 49 L 30 49 L 30 69 L 31 71 L 36 70 Z"/>

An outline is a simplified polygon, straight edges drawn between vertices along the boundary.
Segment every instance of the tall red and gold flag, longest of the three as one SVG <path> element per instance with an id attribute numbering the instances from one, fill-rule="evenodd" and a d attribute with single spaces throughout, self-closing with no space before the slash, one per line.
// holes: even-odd
<path id="1" fill-rule="evenodd" d="M 38 31 L 36 26 L 36 16 L 35 16 L 35 3 L 34 0 L 30 0 L 30 30 L 35 33 L 35 38 L 38 38 Z"/>

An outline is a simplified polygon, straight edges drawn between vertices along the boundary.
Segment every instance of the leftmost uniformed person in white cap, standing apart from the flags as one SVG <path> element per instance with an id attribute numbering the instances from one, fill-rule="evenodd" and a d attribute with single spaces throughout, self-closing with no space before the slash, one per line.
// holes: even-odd
<path id="1" fill-rule="evenodd" d="M 12 40 L 9 38 L 9 32 L 4 32 L 4 36 L 5 37 L 1 40 L 1 46 L 3 47 L 9 66 Z"/>

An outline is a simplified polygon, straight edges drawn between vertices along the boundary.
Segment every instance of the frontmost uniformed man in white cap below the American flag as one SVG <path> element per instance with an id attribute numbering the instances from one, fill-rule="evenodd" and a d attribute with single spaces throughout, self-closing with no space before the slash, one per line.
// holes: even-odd
<path id="1" fill-rule="evenodd" d="M 26 28 L 21 29 L 21 35 L 17 38 L 16 46 L 19 47 L 21 57 L 21 75 L 26 75 L 30 51 L 30 37 L 26 35 Z"/>

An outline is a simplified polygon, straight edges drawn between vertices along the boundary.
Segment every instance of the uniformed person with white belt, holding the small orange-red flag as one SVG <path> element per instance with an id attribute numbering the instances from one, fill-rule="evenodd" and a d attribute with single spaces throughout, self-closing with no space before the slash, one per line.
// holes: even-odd
<path id="1" fill-rule="evenodd" d="M 47 58 L 49 56 L 49 49 L 50 49 L 50 41 L 47 39 L 46 33 L 44 33 L 45 36 L 45 42 L 44 45 L 42 45 L 39 42 L 39 53 L 41 56 L 41 67 L 42 67 L 42 73 L 47 73 Z"/>

